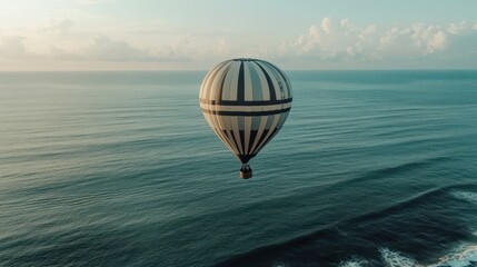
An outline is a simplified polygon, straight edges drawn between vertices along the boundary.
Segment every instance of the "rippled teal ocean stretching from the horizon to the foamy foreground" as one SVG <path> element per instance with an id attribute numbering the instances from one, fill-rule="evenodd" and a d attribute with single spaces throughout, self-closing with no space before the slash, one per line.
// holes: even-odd
<path id="1" fill-rule="evenodd" d="M 477 71 L 286 71 L 240 164 L 206 71 L 0 72 L 0 266 L 477 264 Z"/>

